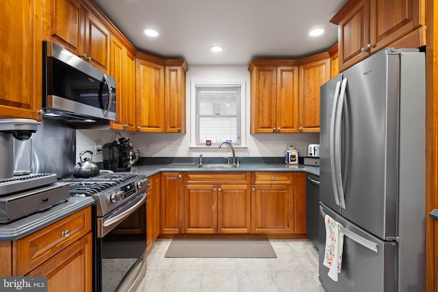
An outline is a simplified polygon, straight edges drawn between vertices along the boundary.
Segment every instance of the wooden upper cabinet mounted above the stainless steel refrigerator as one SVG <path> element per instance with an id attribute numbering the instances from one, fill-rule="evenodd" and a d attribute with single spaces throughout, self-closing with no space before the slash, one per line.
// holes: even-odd
<path id="1" fill-rule="evenodd" d="M 339 70 L 385 47 L 426 45 L 424 0 L 350 0 L 333 16 L 339 25 Z"/>

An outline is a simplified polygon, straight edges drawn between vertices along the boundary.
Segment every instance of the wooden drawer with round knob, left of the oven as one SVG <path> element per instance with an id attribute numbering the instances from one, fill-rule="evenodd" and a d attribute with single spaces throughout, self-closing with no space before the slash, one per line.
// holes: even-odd
<path id="1" fill-rule="evenodd" d="M 12 244 L 14 276 L 23 276 L 91 230 L 91 207 L 44 227 Z"/>

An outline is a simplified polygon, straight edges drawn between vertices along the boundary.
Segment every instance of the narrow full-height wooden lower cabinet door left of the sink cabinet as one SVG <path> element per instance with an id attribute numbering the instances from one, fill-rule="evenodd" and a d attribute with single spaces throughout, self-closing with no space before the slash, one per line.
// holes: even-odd
<path id="1" fill-rule="evenodd" d="M 161 174 L 160 233 L 177 234 L 183 230 L 182 175 L 179 172 Z"/>

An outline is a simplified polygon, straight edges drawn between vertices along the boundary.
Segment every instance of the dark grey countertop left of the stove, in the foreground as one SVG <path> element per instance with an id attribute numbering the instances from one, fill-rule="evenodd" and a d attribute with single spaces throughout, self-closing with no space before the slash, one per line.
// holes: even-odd
<path id="1" fill-rule="evenodd" d="M 92 197 L 70 197 L 67 202 L 57 204 L 50 209 L 34 213 L 8 224 L 0 224 L 0 240 L 21 239 L 94 203 Z"/>

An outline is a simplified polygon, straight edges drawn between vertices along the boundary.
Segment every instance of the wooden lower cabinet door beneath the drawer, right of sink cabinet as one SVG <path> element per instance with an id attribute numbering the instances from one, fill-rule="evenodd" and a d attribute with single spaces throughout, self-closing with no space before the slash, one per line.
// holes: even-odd
<path id="1" fill-rule="evenodd" d="M 253 185 L 252 233 L 294 233 L 294 186 Z"/>

